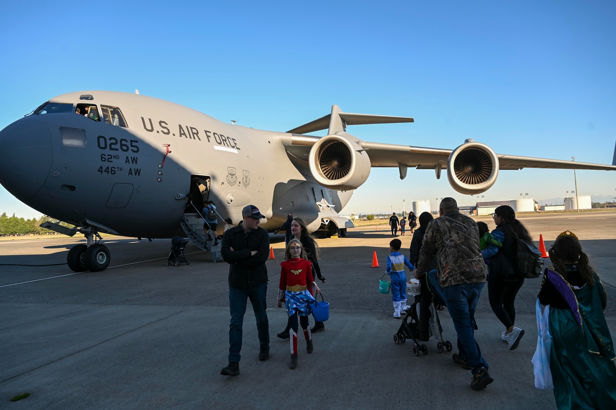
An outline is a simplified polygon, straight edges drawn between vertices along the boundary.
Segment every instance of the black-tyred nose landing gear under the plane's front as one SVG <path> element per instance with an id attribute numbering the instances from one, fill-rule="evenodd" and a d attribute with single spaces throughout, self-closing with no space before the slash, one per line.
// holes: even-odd
<path id="1" fill-rule="evenodd" d="M 100 272 L 109 266 L 111 262 L 111 252 L 107 246 L 99 243 L 102 239 L 99 233 L 92 228 L 80 230 L 86 236 L 86 244 L 79 244 L 71 247 L 68 251 L 68 267 L 74 272 L 86 270 Z"/>

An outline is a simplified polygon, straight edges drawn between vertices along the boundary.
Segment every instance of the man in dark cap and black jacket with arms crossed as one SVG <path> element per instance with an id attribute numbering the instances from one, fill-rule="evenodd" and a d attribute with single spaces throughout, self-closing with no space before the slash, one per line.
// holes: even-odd
<path id="1" fill-rule="evenodd" d="M 240 374 L 241 334 L 246 300 L 250 298 L 259 332 L 259 360 L 269 359 L 269 322 L 267 321 L 267 267 L 269 233 L 259 227 L 264 215 L 254 205 L 242 209 L 243 220 L 222 237 L 222 259 L 229 263 L 229 366 L 221 374 Z"/>

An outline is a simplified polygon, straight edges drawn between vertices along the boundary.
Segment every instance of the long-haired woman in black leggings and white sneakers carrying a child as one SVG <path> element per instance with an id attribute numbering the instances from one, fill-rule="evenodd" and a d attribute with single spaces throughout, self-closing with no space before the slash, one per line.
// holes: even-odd
<path id="1" fill-rule="evenodd" d="M 520 343 L 524 330 L 516 328 L 516 295 L 524 284 L 524 278 L 515 274 L 517 264 L 517 240 L 532 243 L 529 231 L 516 219 L 516 212 L 509 205 L 501 205 L 492 214 L 496 229 L 492 236 L 503 246 L 490 245 L 481 253 L 484 259 L 491 258 L 488 275 L 488 300 L 492 311 L 505 325 L 501 339 L 507 348 L 514 350 Z"/>

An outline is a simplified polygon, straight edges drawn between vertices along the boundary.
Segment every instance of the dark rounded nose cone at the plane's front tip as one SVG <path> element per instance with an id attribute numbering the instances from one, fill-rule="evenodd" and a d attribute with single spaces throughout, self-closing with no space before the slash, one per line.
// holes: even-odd
<path id="1" fill-rule="evenodd" d="M 31 198 L 42 186 L 54 159 L 46 124 L 20 119 L 0 131 L 0 183 L 18 199 Z"/>

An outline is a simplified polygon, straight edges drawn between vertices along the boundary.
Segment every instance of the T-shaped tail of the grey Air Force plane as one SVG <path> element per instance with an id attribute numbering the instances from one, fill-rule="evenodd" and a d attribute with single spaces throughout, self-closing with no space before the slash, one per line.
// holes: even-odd
<path id="1" fill-rule="evenodd" d="M 331 114 L 310 121 L 302 126 L 291 129 L 291 134 L 306 134 L 307 132 L 329 129 L 329 134 L 336 134 L 338 131 L 346 131 L 347 125 L 359 124 L 392 124 L 392 123 L 413 123 L 415 120 L 410 117 L 395 117 L 390 115 L 371 115 L 342 113 L 338 105 L 331 106 Z"/>

